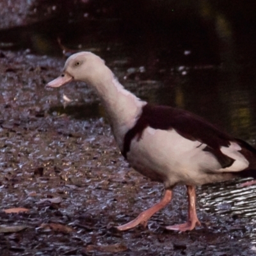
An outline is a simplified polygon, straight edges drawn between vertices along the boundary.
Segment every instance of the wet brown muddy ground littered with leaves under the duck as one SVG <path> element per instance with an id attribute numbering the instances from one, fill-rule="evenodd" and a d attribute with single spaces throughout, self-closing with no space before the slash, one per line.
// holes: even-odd
<path id="1" fill-rule="evenodd" d="M 0 228 L 1 255 L 256 254 L 249 218 L 205 206 L 214 187 L 198 188 L 202 227 L 191 232 L 164 230 L 186 221 L 183 187 L 147 228 L 116 231 L 156 203 L 163 186 L 124 161 L 90 88 L 45 89 L 64 59 L 0 53 L 0 227 L 14 228 Z M 29 211 L 4 212 L 17 207 Z"/>

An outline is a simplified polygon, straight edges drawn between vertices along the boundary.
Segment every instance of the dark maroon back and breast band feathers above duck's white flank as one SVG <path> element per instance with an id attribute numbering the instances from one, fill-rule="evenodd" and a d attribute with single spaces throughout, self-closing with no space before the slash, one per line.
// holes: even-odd
<path id="1" fill-rule="evenodd" d="M 220 150 L 222 146 L 228 147 L 230 141 L 234 138 L 188 111 L 168 106 L 151 106 L 150 104 L 143 107 L 140 118 L 138 118 L 134 127 L 125 134 L 122 150 L 125 158 L 130 150 L 131 140 L 136 136 L 140 140 L 142 132 L 148 126 L 161 130 L 175 129 L 176 132 L 188 140 L 197 140 L 206 144 L 207 148 L 205 150 L 216 157 L 222 168 L 234 163 L 234 159 L 226 156 Z"/>

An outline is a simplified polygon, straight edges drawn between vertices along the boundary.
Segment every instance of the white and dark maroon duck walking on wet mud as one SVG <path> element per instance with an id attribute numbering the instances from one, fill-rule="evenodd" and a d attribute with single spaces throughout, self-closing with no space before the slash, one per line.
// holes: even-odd
<path id="1" fill-rule="evenodd" d="M 237 177 L 256 178 L 256 149 L 221 131 L 200 116 L 170 106 L 155 106 L 125 90 L 113 72 L 92 52 L 77 52 L 66 61 L 61 75 L 47 84 L 57 88 L 83 81 L 97 93 L 106 110 L 120 152 L 134 170 L 164 186 L 157 204 L 141 212 L 120 231 L 148 220 L 172 200 L 175 186 L 186 186 L 188 220 L 167 225 L 180 232 L 200 226 L 196 214 L 196 186 Z"/>

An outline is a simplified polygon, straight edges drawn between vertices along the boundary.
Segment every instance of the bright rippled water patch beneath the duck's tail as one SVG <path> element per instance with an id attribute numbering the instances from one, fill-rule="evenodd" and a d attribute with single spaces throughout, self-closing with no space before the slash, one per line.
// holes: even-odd
<path id="1" fill-rule="evenodd" d="M 256 244 L 256 185 L 240 187 L 249 179 L 237 179 L 229 182 L 204 185 L 198 188 L 200 209 L 210 214 L 228 214 L 236 218 L 246 218 L 246 230 L 243 239 Z M 235 223 L 235 221 L 234 221 Z"/>

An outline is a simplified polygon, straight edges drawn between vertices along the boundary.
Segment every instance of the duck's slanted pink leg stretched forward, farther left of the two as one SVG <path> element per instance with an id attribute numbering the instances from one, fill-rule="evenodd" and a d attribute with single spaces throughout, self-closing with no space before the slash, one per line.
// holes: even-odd
<path id="1" fill-rule="evenodd" d="M 134 228 L 138 225 L 143 225 L 143 227 L 147 227 L 147 222 L 150 219 L 150 217 L 154 215 L 156 212 L 163 209 L 171 200 L 172 190 L 166 189 L 166 191 L 164 192 L 164 196 L 159 203 L 153 205 L 146 211 L 141 212 L 141 214 L 136 219 L 130 221 L 129 223 L 126 223 L 125 225 L 118 226 L 116 228 L 120 231 L 124 231 L 130 228 Z"/>

